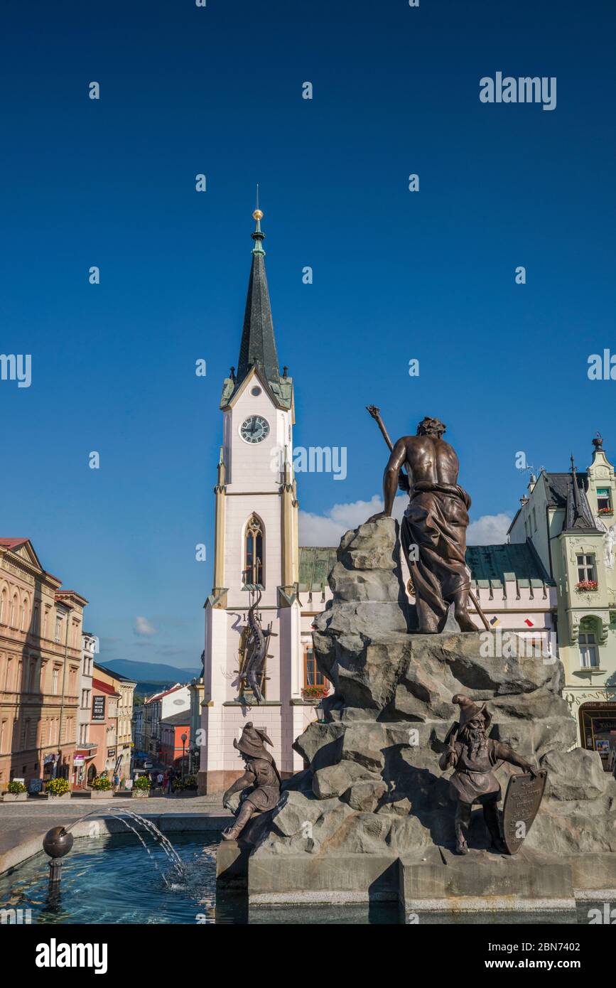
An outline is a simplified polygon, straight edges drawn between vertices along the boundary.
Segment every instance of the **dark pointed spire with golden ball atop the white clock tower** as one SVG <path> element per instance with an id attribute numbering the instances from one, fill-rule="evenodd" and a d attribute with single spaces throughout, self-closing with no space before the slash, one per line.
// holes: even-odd
<path id="1" fill-rule="evenodd" d="M 266 252 L 263 249 L 266 235 L 261 229 L 261 220 L 264 214 L 259 208 L 259 186 L 257 187 L 257 204 L 257 208 L 253 212 L 257 227 L 255 232 L 251 234 L 255 246 L 244 313 L 236 387 L 242 383 L 251 368 L 255 366 L 270 384 L 277 386 L 280 380 L 278 355 L 271 321 L 268 279 L 266 277 Z"/>

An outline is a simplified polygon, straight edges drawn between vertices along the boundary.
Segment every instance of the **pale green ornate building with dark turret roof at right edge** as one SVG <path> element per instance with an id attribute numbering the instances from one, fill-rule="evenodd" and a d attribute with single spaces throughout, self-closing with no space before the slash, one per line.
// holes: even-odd
<path id="1" fill-rule="evenodd" d="M 607 770 L 616 760 L 616 479 L 603 441 L 592 443 L 585 472 L 572 456 L 569 472 L 531 477 L 509 540 L 531 544 L 556 581 L 564 695 L 581 746 Z"/>

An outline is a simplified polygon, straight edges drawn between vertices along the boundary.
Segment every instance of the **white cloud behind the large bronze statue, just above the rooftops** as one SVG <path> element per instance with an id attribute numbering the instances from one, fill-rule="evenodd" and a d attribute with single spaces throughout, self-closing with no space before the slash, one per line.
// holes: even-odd
<path id="1" fill-rule="evenodd" d="M 404 495 L 394 502 L 394 518 L 401 521 L 409 503 Z M 325 515 L 314 515 L 308 511 L 299 512 L 300 545 L 337 546 L 349 529 L 356 529 L 377 512 L 383 510 L 383 501 L 375 494 L 370 501 L 352 501 L 349 504 L 335 504 Z M 511 524 L 508 515 L 482 515 L 468 527 L 469 545 L 496 545 L 504 542 L 506 530 Z"/>

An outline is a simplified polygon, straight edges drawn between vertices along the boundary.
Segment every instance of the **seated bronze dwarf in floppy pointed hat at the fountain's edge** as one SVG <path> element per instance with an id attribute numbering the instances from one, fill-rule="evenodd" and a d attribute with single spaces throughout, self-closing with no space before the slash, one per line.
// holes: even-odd
<path id="1" fill-rule="evenodd" d="M 259 730 L 252 723 L 244 725 L 240 736 L 233 741 L 246 764 L 246 772 L 231 785 L 222 797 L 222 805 L 227 807 L 227 800 L 234 792 L 247 789 L 242 795 L 237 818 L 232 827 L 223 831 L 224 841 L 236 841 L 253 813 L 265 813 L 273 809 L 280 798 L 280 777 L 265 742 L 271 744 L 264 730 Z"/>

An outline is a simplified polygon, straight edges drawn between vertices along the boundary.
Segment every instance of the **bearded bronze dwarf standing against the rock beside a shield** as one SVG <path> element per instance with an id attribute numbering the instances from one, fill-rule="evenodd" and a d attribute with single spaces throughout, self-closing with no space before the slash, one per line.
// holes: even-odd
<path id="1" fill-rule="evenodd" d="M 456 854 L 468 854 L 466 836 L 473 803 L 483 806 L 492 847 L 503 851 L 499 821 L 500 784 L 492 770 L 497 762 L 508 762 L 532 776 L 536 776 L 537 771 L 508 745 L 488 737 L 492 714 L 485 703 L 479 705 L 462 694 L 456 694 L 451 701 L 460 707 L 460 720 L 450 728 L 445 738 L 448 748 L 438 764 L 443 772 L 455 769 L 449 780 L 449 795 L 456 802 Z"/>

